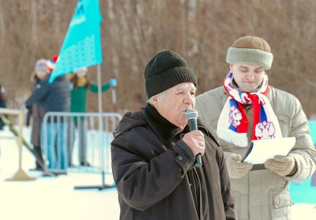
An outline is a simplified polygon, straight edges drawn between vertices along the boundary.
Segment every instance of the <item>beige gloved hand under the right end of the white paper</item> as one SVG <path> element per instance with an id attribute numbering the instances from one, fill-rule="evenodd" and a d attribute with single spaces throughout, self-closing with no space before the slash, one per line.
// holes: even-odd
<path id="1" fill-rule="evenodd" d="M 273 170 L 281 177 L 291 176 L 297 171 L 296 162 L 292 155 L 276 155 L 274 159 L 267 159 L 267 161 L 264 163 L 264 167 Z"/>

